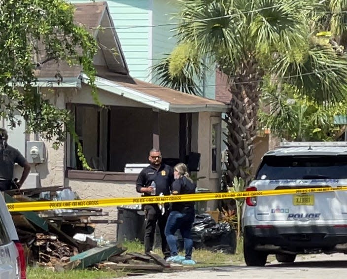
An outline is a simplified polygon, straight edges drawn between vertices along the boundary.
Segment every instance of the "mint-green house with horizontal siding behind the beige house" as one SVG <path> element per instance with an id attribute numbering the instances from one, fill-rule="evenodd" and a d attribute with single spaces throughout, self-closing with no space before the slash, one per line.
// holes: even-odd
<path id="1" fill-rule="evenodd" d="M 69 0 L 82 3 L 86 0 Z M 97 0 L 103 1 L 103 0 Z M 172 52 L 176 39 L 172 29 L 174 13 L 180 8 L 176 0 L 107 0 L 117 35 L 129 67 L 130 75 L 156 83 L 151 71 L 163 54 Z M 215 67 L 211 65 L 201 82 L 204 97 L 215 99 Z"/>

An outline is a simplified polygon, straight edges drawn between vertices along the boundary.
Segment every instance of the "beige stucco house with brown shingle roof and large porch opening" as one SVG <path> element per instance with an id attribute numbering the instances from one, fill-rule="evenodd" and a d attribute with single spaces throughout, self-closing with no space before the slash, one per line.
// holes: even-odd
<path id="1" fill-rule="evenodd" d="M 94 170 L 82 170 L 72 139 L 67 140 L 64 148 L 54 150 L 52 143 L 43 142 L 37 135 L 21 137 L 22 131 L 20 137 L 11 137 L 9 143 L 25 149 L 23 153 L 32 163 L 32 173 L 24 187 L 31 187 L 39 177 L 40 186 L 69 186 L 82 199 L 139 196 L 135 191 L 137 174 L 127 173 L 126 166 L 147 164 L 148 151 L 154 146 L 162 150 L 168 164 L 183 161 L 199 170 L 198 175 L 205 176 L 198 181 L 199 187 L 217 191 L 221 113 L 227 106 L 133 78 L 106 2 L 76 4 L 75 21 L 85 26 L 102 46 L 94 63 L 99 99 L 105 108 L 95 105 L 88 78 L 79 67 L 50 61 L 36 74 L 42 93 L 53 104 L 69 108 L 75 115 L 78 140 Z M 57 71 L 63 77 L 59 84 L 54 77 Z M 45 146 L 46 152 L 39 154 L 40 161 L 31 156 L 30 148 L 34 145 Z M 210 204 L 212 207 L 213 201 Z M 116 208 L 105 211 L 109 218 L 117 217 Z M 112 224 L 97 225 L 96 234 L 112 239 L 115 230 Z"/>

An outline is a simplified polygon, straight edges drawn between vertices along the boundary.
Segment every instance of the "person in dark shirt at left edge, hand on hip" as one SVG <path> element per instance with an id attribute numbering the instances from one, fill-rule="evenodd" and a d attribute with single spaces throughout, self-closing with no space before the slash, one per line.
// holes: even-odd
<path id="1" fill-rule="evenodd" d="M 0 191 L 20 188 L 30 173 L 30 165 L 18 149 L 7 144 L 6 129 L 0 128 Z M 13 180 L 14 164 L 24 168 L 22 177 L 18 182 Z"/>

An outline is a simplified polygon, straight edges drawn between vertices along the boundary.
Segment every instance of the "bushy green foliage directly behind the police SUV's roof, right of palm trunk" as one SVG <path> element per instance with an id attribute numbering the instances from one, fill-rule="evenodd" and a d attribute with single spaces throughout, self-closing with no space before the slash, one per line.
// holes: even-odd
<path id="1" fill-rule="evenodd" d="M 262 107 L 259 110 L 259 123 L 270 128 L 280 139 L 289 141 L 336 140 L 341 136 L 341 127 L 334 125 L 334 116 L 344 114 L 346 101 L 335 104 L 319 104 L 304 96 L 291 85 L 268 84 L 263 90 Z"/>

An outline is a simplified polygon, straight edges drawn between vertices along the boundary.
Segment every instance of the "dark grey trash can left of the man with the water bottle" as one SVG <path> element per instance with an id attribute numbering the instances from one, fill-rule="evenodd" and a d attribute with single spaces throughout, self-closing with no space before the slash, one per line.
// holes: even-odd
<path id="1" fill-rule="evenodd" d="M 117 241 L 134 241 L 138 239 L 144 242 L 144 212 L 138 207 L 117 207 L 118 220 L 122 224 L 117 224 Z"/>

